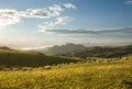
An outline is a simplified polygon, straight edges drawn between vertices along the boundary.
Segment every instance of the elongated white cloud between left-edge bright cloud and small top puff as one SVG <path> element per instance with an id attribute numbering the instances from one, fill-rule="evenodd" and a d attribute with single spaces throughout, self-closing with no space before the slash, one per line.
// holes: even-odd
<path id="1" fill-rule="evenodd" d="M 64 9 L 61 5 L 54 4 L 44 9 L 28 9 L 26 11 L 20 11 L 20 14 L 23 18 L 47 19 L 58 16 L 63 11 Z"/>

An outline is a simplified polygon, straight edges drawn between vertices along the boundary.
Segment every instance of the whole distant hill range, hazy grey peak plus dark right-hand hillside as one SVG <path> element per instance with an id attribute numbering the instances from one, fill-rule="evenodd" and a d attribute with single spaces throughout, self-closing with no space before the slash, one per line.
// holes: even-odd
<path id="1" fill-rule="evenodd" d="M 44 52 L 44 51 L 40 51 Z M 85 47 L 82 45 L 67 44 L 63 46 L 53 46 L 45 49 L 45 54 L 54 54 L 56 56 L 68 56 L 68 57 L 121 57 L 132 53 L 132 45 L 125 46 L 92 46 Z"/>

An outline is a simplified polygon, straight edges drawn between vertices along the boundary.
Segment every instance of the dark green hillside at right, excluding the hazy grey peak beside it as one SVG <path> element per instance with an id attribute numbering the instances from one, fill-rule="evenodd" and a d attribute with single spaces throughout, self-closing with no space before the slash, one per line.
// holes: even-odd
<path id="1" fill-rule="evenodd" d="M 73 52 L 73 54 L 77 57 L 121 57 L 132 54 L 132 45 L 87 47 L 85 51 Z M 69 55 L 72 54 L 67 53 L 67 56 Z"/>

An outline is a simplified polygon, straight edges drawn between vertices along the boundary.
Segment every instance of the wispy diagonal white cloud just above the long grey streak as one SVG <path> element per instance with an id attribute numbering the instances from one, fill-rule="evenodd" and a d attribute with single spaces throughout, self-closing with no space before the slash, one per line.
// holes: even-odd
<path id="1" fill-rule="evenodd" d="M 48 30 L 53 30 L 57 25 L 66 25 L 72 18 L 69 16 L 59 16 L 56 18 L 55 22 L 45 22 L 44 25 L 38 25 L 40 32 L 46 32 Z"/>

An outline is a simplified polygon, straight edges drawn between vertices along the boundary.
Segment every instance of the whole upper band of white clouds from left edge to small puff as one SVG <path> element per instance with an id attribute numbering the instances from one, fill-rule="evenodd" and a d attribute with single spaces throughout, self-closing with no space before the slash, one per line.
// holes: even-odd
<path id="1" fill-rule="evenodd" d="M 62 14 L 66 9 L 75 8 L 72 3 L 64 5 L 53 4 L 43 9 L 26 9 L 18 11 L 14 9 L 0 9 L 0 25 L 11 25 L 21 22 L 22 18 L 50 19 Z M 52 24 L 52 23 L 51 23 Z"/>

